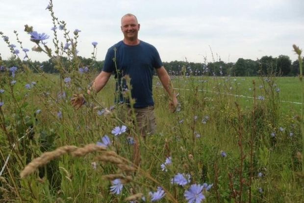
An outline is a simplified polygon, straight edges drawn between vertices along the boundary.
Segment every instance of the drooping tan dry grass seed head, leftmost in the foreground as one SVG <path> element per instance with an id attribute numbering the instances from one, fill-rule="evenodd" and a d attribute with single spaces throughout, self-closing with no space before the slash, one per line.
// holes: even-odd
<path id="1" fill-rule="evenodd" d="M 33 159 L 29 164 L 27 164 L 24 170 L 20 173 L 20 177 L 25 178 L 34 171 L 36 171 L 39 167 L 49 163 L 51 160 L 58 158 L 59 156 L 65 153 L 73 152 L 76 149 L 77 149 L 76 146 L 64 146 L 57 148 L 52 152 L 45 152 L 40 157 Z"/>

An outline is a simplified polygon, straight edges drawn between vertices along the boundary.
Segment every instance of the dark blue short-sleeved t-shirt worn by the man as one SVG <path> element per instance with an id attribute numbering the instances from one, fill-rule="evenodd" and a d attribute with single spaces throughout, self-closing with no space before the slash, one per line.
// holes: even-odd
<path id="1" fill-rule="evenodd" d="M 131 97 L 135 99 L 135 108 L 142 108 L 154 105 L 152 95 L 152 76 L 154 68 L 162 67 L 158 51 L 151 44 L 140 41 L 138 45 L 129 46 L 123 41 L 108 49 L 103 71 L 114 72 L 116 91 L 118 97 L 116 102 L 128 101 L 123 97 L 122 92 L 128 89 L 124 76 L 130 77 Z"/>

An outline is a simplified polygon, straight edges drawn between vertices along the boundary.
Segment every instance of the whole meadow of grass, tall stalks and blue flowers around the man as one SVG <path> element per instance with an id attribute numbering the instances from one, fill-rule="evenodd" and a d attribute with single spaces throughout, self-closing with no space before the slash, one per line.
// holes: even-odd
<path id="1" fill-rule="evenodd" d="M 29 25 L 25 32 L 60 74 L 29 67 L 0 33 L 19 59 L 0 64 L 1 203 L 303 202 L 302 69 L 299 77 L 171 76 L 174 113 L 155 76 L 157 131 L 144 139 L 134 115 L 114 103 L 113 76 L 99 94 L 86 93 L 98 73 L 94 63 L 80 65 L 80 30 L 69 33 L 52 6 L 52 49 L 44 33 Z M 71 103 L 77 97 L 85 99 L 79 108 Z"/>

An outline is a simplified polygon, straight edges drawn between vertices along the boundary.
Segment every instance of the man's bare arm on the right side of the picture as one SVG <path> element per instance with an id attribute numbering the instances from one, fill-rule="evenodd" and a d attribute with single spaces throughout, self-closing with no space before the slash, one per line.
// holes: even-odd
<path id="1" fill-rule="evenodd" d="M 169 101 L 169 107 L 171 111 L 176 111 L 177 108 L 177 97 L 175 94 L 175 91 L 173 89 L 173 85 L 171 83 L 171 79 L 166 71 L 166 69 L 162 66 L 158 69 L 156 69 L 156 73 L 164 86 L 165 90 L 168 92 L 170 96 L 170 101 Z"/>

